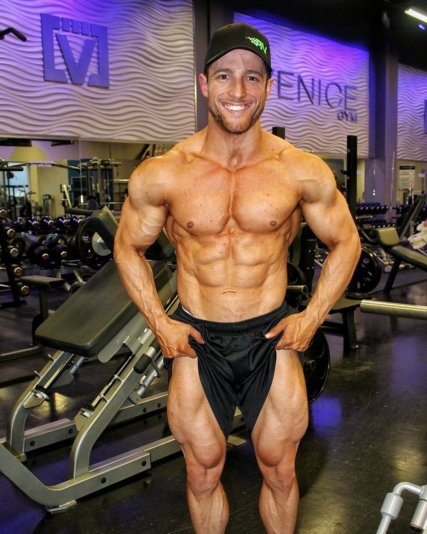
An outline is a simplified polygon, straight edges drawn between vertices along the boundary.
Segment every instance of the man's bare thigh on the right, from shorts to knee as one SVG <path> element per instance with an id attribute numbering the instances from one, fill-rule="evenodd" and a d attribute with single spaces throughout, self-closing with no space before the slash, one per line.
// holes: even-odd
<path id="1" fill-rule="evenodd" d="M 304 373 L 295 351 L 279 350 L 273 382 L 252 431 L 257 456 L 277 465 L 296 453 L 308 422 Z"/>

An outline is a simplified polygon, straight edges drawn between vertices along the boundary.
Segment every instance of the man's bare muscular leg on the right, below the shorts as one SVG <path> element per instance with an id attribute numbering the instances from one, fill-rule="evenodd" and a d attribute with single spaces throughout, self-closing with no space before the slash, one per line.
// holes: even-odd
<path id="1" fill-rule="evenodd" d="M 259 511 L 268 534 L 292 534 L 298 509 L 295 456 L 308 423 L 304 373 L 294 351 L 277 352 L 272 386 L 252 431 L 264 482 Z"/>

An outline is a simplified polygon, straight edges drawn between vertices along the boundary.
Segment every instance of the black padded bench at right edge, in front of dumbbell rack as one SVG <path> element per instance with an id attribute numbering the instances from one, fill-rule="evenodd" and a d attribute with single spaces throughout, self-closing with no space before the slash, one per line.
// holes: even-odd
<path id="1" fill-rule="evenodd" d="M 393 266 L 389 278 L 385 283 L 383 293 L 386 295 L 390 294 L 402 262 L 409 263 L 409 265 L 413 265 L 422 271 L 427 271 L 427 257 L 417 252 L 417 250 L 406 246 L 405 241 L 400 240 L 396 228 L 378 228 L 375 230 L 375 233 L 378 243 L 393 258 Z"/>

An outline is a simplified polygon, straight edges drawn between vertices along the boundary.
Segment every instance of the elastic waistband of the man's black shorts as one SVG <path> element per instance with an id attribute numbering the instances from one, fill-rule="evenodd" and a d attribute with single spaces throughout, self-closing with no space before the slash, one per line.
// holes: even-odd
<path id="1" fill-rule="evenodd" d="M 218 323 L 217 321 L 207 321 L 205 319 L 199 319 L 194 317 L 192 313 L 189 313 L 181 304 L 178 305 L 177 313 L 188 320 L 188 323 L 195 323 L 206 327 L 209 332 L 218 334 L 243 334 L 246 332 L 253 332 L 256 329 L 266 327 L 276 316 L 282 313 L 286 315 L 289 310 L 289 304 L 283 301 L 283 304 L 275 310 L 264 313 L 258 317 L 252 317 L 250 319 L 244 319 L 243 321 L 236 321 L 236 323 Z"/>

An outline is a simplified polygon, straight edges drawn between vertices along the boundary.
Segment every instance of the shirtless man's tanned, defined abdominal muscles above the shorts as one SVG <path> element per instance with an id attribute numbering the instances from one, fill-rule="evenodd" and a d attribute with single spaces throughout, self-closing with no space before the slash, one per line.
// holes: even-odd
<path id="1" fill-rule="evenodd" d="M 181 304 L 199 319 L 234 323 L 278 308 L 287 287 L 283 235 L 187 236 L 177 243 Z M 279 246 L 280 245 L 280 246 Z"/>

